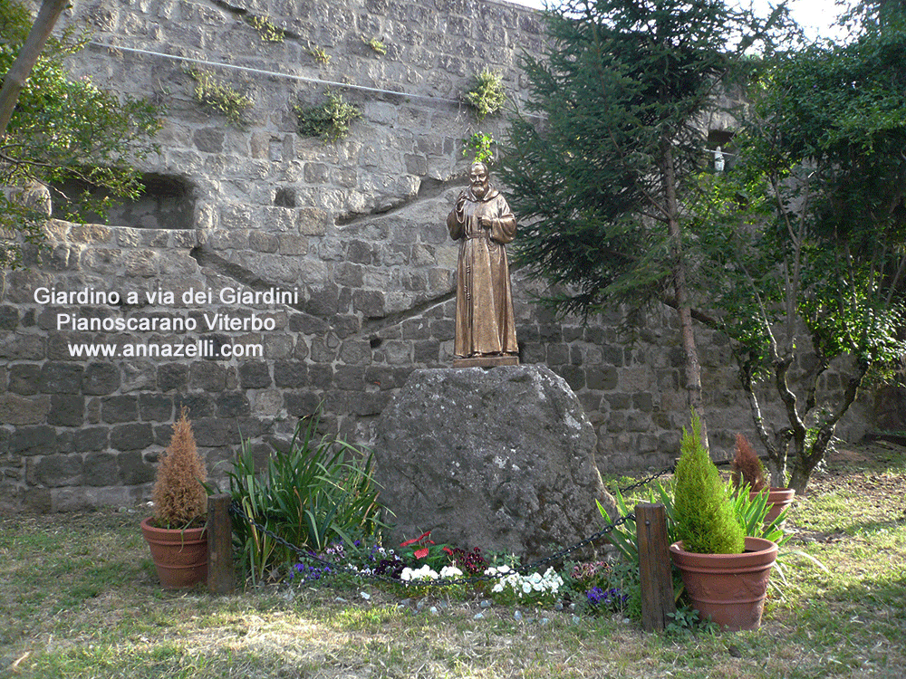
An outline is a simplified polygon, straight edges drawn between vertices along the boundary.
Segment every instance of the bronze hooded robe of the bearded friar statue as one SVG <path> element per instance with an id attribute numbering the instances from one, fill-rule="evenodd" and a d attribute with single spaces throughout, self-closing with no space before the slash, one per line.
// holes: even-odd
<path id="1" fill-rule="evenodd" d="M 482 227 L 479 217 L 489 219 L 491 227 Z M 477 198 L 469 188 L 462 211 L 453 208 L 447 227 L 454 240 L 462 241 L 454 354 L 467 358 L 518 353 L 505 247 L 516 235 L 516 217 L 506 198 L 490 187 Z"/>

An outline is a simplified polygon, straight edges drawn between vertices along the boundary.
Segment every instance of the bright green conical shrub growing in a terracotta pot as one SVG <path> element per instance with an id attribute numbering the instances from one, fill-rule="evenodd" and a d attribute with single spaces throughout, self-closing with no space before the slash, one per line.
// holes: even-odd
<path id="1" fill-rule="evenodd" d="M 694 411 L 690 431 L 683 427 L 674 479 L 673 507 L 683 547 L 700 554 L 741 553 L 746 533 L 717 466 L 701 444 L 701 421 Z"/>

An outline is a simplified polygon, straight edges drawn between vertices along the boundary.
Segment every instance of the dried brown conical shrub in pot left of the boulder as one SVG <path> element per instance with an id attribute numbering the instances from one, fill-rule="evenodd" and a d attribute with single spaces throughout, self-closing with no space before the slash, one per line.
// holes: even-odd
<path id="1" fill-rule="evenodd" d="M 188 408 L 173 425 L 173 437 L 158 466 L 154 484 L 154 520 L 159 528 L 184 528 L 207 512 L 205 464 L 198 455 Z"/>

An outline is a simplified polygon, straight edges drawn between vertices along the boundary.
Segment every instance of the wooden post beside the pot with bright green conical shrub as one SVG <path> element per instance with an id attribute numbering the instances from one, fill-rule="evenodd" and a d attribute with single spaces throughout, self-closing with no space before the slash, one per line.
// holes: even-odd
<path id="1" fill-rule="evenodd" d="M 646 632 L 661 632 L 670 621 L 668 614 L 676 612 L 664 505 L 635 505 L 635 530 L 639 539 L 641 625 Z"/>

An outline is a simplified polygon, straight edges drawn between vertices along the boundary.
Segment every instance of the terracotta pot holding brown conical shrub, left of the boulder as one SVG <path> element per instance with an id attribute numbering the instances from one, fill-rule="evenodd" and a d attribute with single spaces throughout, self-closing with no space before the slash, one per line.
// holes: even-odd
<path id="1" fill-rule="evenodd" d="M 207 579 L 207 530 L 156 528 L 150 518 L 141 521 L 141 532 L 151 550 L 161 587 L 191 587 Z"/>

